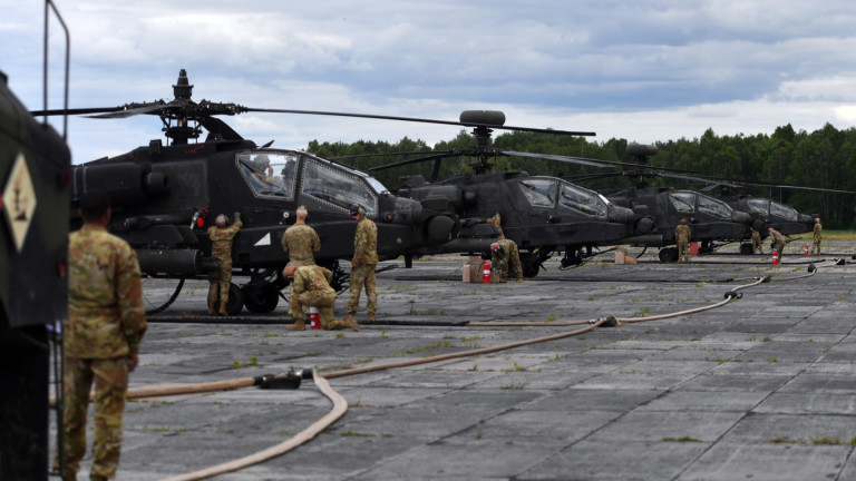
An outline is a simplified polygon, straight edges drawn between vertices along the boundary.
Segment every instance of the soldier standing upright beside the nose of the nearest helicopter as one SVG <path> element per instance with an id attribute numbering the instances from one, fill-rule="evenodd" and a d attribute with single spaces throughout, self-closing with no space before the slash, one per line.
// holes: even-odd
<path id="1" fill-rule="evenodd" d="M 366 286 L 366 310 L 369 321 L 374 321 L 378 312 L 378 295 L 374 292 L 374 267 L 378 265 L 378 226 L 366 217 L 366 209 L 351 206 L 351 217 L 357 220 L 357 235 L 353 238 L 353 259 L 351 261 L 351 300 L 348 302 L 348 315 L 344 323 L 356 324 L 353 316 L 360 305 L 360 292 Z"/>

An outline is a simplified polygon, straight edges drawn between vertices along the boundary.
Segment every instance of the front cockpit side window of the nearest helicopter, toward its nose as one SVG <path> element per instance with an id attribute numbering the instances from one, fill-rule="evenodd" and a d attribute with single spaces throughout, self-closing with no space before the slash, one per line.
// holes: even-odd
<path id="1" fill-rule="evenodd" d="M 303 194 L 342 210 L 349 210 L 353 204 L 362 206 L 368 216 L 378 210 L 378 197 L 363 178 L 311 159 L 307 159 L 301 188 Z"/>

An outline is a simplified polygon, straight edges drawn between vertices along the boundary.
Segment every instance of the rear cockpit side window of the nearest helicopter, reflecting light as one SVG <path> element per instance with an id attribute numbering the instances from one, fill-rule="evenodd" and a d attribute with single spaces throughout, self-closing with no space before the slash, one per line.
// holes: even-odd
<path id="1" fill-rule="evenodd" d="M 256 196 L 292 200 L 298 160 L 285 153 L 240 154 L 237 167 Z"/>

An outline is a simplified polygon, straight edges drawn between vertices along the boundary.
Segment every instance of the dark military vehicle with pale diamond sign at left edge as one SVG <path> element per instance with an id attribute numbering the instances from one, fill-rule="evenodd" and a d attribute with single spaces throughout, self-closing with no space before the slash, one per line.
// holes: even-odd
<path id="1" fill-rule="evenodd" d="M 50 12 L 59 18 L 48 0 L 45 45 Z M 47 76 L 47 58 L 43 68 Z M 68 53 L 66 79 L 67 72 Z M 65 129 L 60 135 L 33 118 L 0 71 L 0 479 L 4 480 L 48 479 L 51 370 L 54 380 L 62 379 L 61 340 L 54 327 L 68 308 L 70 165 Z M 59 383 L 52 384 L 61 399 Z"/>

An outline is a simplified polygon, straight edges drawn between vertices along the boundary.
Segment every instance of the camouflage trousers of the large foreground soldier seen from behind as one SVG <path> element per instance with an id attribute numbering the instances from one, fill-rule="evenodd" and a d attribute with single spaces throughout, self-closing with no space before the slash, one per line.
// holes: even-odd
<path id="1" fill-rule="evenodd" d="M 62 369 L 65 460 L 59 467 L 64 478 L 77 474 L 86 452 L 86 412 L 93 381 L 95 442 L 91 474 L 109 479 L 116 475 L 119 465 L 121 413 L 125 411 L 125 392 L 128 390 L 128 359 L 66 357 Z"/>

